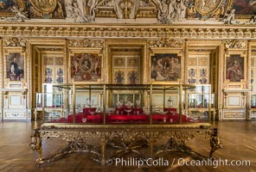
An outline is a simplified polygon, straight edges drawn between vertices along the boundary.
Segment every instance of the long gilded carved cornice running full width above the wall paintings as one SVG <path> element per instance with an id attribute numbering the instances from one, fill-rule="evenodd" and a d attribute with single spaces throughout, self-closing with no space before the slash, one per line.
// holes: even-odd
<path id="1" fill-rule="evenodd" d="M 35 27 L 36 26 L 36 27 Z M 217 25 L 81 25 L 70 23 L 0 24 L 0 36 L 58 38 L 256 39 L 253 26 Z"/>

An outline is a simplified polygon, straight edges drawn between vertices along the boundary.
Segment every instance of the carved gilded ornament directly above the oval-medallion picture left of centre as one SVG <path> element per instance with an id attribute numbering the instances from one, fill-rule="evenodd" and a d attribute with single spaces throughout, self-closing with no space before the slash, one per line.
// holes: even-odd
<path id="1" fill-rule="evenodd" d="M 68 40 L 68 46 L 103 48 L 104 40 Z"/>

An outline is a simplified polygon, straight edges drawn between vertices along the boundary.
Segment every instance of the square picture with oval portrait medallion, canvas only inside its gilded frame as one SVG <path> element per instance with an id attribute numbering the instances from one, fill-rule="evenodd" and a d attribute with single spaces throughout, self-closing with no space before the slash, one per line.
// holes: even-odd
<path id="1" fill-rule="evenodd" d="M 98 53 L 74 53 L 70 56 L 71 78 L 74 82 L 98 82 L 102 59 Z"/>

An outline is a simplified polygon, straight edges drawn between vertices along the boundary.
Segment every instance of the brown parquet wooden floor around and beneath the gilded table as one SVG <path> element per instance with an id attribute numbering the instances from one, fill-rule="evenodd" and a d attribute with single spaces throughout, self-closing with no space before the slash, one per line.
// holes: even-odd
<path id="1" fill-rule="evenodd" d="M 164 166 L 144 165 L 140 168 L 136 166 L 102 166 L 93 162 L 90 155 L 86 153 L 74 153 L 61 158 L 52 163 L 38 165 L 35 163 L 37 154 L 29 147 L 32 130 L 39 126 L 40 122 L 16 122 L 4 121 L 0 123 L 0 171 L 1 172 L 163 172 L 163 171 L 199 171 L 199 172 L 256 172 L 256 122 L 245 121 L 224 121 L 215 122 L 221 130 L 220 138 L 223 144 L 221 151 L 216 151 L 216 160 L 226 161 L 238 165 L 179 165 L 178 160 L 193 160 L 194 157 L 182 152 L 171 152 L 164 158 L 170 164 Z M 51 138 L 43 142 L 44 156 L 60 151 L 65 143 L 58 138 Z M 207 156 L 209 151 L 208 140 L 204 138 L 194 138 L 189 141 L 189 146 L 194 151 Z M 173 164 L 172 161 L 175 160 Z M 241 164 L 242 160 L 249 160 L 250 165 Z M 180 161 L 182 163 L 182 161 Z"/>

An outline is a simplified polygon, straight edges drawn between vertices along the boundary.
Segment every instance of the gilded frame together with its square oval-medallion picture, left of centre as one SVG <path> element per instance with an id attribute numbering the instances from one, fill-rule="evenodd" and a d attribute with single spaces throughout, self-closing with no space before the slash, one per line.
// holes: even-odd
<path id="1" fill-rule="evenodd" d="M 70 49 L 68 69 L 70 83 L 102 83 L 103 55 L 100 48 Z"/>

